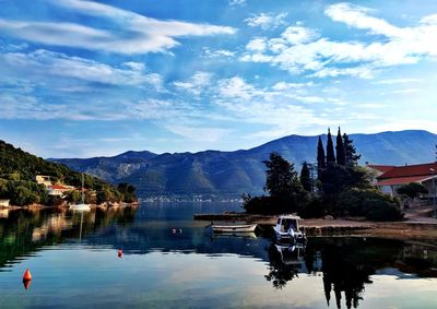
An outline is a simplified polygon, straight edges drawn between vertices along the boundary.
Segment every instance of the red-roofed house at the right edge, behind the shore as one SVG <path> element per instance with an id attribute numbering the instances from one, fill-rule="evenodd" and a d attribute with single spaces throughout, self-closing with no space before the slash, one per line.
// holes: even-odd
<path id="1" fill-rule="evenodd" d="M 392 197 L 397 197 L 397 189 L 410 182 L 422 183 L 427 190 L 428 194 L 424 198 L 434 197 L 434 182 L 433 179 L 437 177 L 437 163 L 426 163 L 417 165 L 394 166 L 387 167 L 385 173 L 376 177 L 377 186 L 382 192 Z M 437 179 L 435 180 L 437 182 Z"/>

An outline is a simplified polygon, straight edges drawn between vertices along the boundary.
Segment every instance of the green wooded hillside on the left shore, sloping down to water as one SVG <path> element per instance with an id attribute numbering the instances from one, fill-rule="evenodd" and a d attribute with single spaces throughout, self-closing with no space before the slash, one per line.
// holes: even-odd
<path id="1" fill-rule="evenodd" d="M 0 199 L 9 199 L 12 205 L 33 203 L 57 205 L 62 202 L 58 197 L 49 195 L 43 185 L 36 183 L 36 175 L 49 176 L 55 183 L 64 183 L 80 188 L 82 175 L 67 166 L 47 162 L 40 157 L 15 148 L 0 141 Z M 84 187 L 87 189 L 85 202 L 133 202 L 137 200 L 132 186 L 120 183 L 118 188 L 84 174 Z M 81 193 L 70 191 L 66 200 L 76 202 Z"/>

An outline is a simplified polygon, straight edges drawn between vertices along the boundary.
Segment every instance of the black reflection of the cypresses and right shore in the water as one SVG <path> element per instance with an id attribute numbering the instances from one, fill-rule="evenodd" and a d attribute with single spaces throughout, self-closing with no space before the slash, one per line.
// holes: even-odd
<path id="1" fill-rule="evenodd" d="M 305 247 L 271 243 L 268 251 L 265 278 L 273 287 L 284 288 L 299 273 L 321 274 L 327 305 L 334 298 L 336 308 L 341 308 L 343 295 L 346 308 L 357 308 L 365 286 L 373 283 L 370 276 L 385 269 L 403 268 L 418 276 L 436 276 L 430 270 L 437 261 L 429 257 L 429 250 L 397 240 L 312 238 Z"/>

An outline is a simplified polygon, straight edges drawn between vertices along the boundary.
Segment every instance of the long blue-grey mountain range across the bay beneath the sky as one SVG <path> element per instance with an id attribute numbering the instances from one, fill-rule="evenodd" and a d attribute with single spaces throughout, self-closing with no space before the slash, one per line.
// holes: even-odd
<path id="1" fill-rule="evenodd" d="M 327 136 L 321 136 L 326 145 Z M 435 159 L 437 135 L 427 131 L 351 134 L 351 139 L 362 154 L 362 164 L 403 165 Z M 261 193 L 265 181 L 262 161 L 271 152 L 280 153 L 299 170 L 304 161 L 316 161 L 317 140 L 318 136 L 290 135 L 235 152 L 127 152 L 114 157 L 51 161 L 113 183 L 132 183 L 140 195 Z"/>

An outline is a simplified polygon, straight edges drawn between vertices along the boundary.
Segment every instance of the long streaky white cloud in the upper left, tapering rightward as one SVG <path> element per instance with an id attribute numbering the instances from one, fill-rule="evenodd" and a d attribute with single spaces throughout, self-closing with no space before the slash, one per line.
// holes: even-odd
<path id="1" fill-rule="evenodd" d="M 160 21 L 134 12 L 92 1 L 50 1 L 79 14 L 104 20 L 106 28 L 94 28 L 68 22 L 0 20 L 0 32 L 45 45 L 67 46 L 117 54 L 165 51 L 179 43 L 177 37 L 234 34 L 226 26 Z M 117 27 L 117 32 L 111 28 Z"/>

